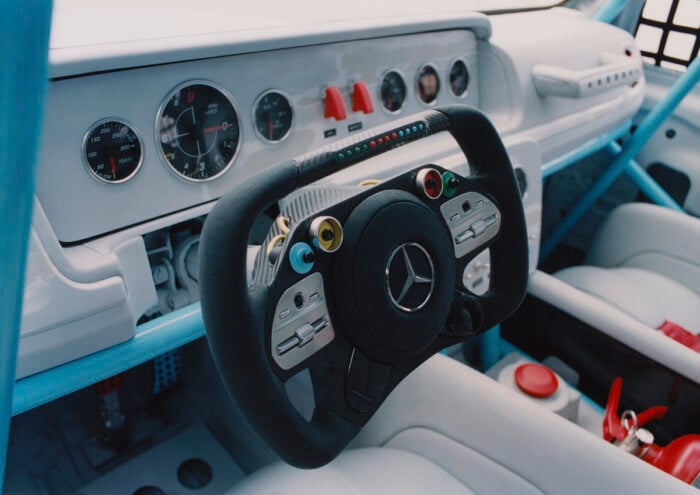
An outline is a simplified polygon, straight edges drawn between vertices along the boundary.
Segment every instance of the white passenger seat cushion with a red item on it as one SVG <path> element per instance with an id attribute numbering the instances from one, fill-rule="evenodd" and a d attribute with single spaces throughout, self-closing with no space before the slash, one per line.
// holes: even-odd
<path id="1" fill-rule="evenodd" d="M 658 273 L 641 268 L 575 266 L 555 276 L 652 328 L 672 321 L 700 333 L 700 296 Z"/>

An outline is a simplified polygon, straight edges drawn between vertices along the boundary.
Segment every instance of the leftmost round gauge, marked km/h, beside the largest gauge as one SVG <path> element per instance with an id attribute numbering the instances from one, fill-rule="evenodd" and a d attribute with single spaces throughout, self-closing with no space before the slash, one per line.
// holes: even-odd
<path id="1" fill-rule="evenodd" d="M 83 139 L 83 159 L 97 179 L 116 184 L 131 178 L 141 166 L 141 139 L 124 122 L 115 119 L 94 124 Z"/>

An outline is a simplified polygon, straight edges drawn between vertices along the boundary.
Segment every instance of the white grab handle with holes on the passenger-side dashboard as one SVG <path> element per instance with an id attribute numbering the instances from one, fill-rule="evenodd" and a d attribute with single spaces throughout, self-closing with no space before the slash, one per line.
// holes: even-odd
<path id="1" fill-rule="evenodd" d="M 642 61 L 616 53 L 600 54 L 601 66 L 570 70 L 539 64 L 532 68 L 535 89 L 541 96 L 587 98 L 620 86 L 629 86 L 642 77 Z"/>

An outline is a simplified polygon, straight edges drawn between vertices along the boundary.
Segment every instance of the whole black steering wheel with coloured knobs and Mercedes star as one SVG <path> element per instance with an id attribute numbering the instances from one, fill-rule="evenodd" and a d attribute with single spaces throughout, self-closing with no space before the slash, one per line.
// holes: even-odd
<path id="1" fill-rule="evenodd" d="M 439 132 L 456 139 L 469 177 L 426 165 L 373 187 L 298 191 L 249 284 L 248 239 L 268 207 Z M 491 286 L 477 296 L 462 277 L 485 248 Z M 527 286 L 527 252 L 518 186 L 489 120 L 465 106 L 426 111 L 266 168 L 217 202 L 199 250 L 209 346 L 261 439 L 289 464 L 318 467 L 420 363 L 515 311 Z M 310 421 L 284 386 L 303 369 L 316 403 Z"/>

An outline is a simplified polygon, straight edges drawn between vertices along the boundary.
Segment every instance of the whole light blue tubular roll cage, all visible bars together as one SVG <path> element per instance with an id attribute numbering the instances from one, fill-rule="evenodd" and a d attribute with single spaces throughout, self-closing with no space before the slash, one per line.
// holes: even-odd
<path id="1" fill-rule="evenodd" d="M 627 0 L 608 0 L 594 15 L 612 22 Z M 41 116 L 46 88 L 46 65 L 50 0 L 0 0 L 0 493 L 6 463 L 10 418 L 32 407 L 107 378 L 124 366 L 133 367 L 163 352 L 175 349 L 204 334 L 198 305 L 183 308 L 156 321 L 140 325 L 129 342 L 82 360 L 67 363 L 17 382 L 15 367 L 19 343 L 24 271 L 34 195 L 34 171 L 40 138 Z M 632 137 L 620 147 L 614 139 L 629 128 L 613 131 L 586 143 L 579 150 L 546 164 L 545 177 L 586 154 L 607 146 L 616 159 L 583 200 L 557 227 L 543 246 L 544 255 L 581 218 L 605 189 L 622 173 L 627 173 L 652 200 L 674 209 L 680 207 L 649 177 L 634 156 L 658 130 L 700 78 L 700 61 L 678 78 L 664 100 L 647 115 Z M 491 362 L 500 351 L 498 329 L 484 336 L 482 354 Z M 166 338 L 167 337 L 167 338 Z M 488 342 L 488 343 L 487 343 Z M 486 356 L 488 355 L 488 357 Z M 119 356 L 119 360 L 115 360 Z M 115 364 L 117 363 L 117 364 Z M 119 369 L 116 367 L 119 366 Z M 14 400 L 13 400 L 14 396 Z"/>

